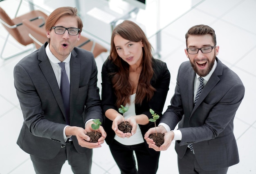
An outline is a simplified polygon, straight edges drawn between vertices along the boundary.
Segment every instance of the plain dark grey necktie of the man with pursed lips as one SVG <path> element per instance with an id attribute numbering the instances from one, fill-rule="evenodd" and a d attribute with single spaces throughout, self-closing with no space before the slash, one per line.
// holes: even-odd
<path id="1" fill-rule="evenodd" d="M 61 67 L 61 95 L 65 107 L 66 124 L 70 125 L 70 83 L 65 70 L 65 62 L 58 63 Z"/>

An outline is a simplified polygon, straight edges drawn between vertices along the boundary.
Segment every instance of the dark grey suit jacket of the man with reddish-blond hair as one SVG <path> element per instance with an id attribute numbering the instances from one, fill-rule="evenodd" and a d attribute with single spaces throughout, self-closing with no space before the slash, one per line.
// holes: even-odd
<path id="1" fill-rule="evenodd" d="M 46 45 L 18 62 L 14 85 L 24 117 L 17 144 L 29 154 L 51 159 L 65 144 L 66 124 L 61 91 Z M 70 59 L 70 125 L 84 128 L 90 118 L 103 120 L 96 62 L 91 52 L 75 47 Z M 72 140 L 79 153 L 88 150 L 75 136 Z"/>

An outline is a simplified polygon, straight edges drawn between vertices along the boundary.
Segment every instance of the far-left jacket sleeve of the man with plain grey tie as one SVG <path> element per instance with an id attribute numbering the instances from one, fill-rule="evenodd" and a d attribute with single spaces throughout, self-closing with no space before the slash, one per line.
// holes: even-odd
<path id="1" fill-rule="evenodd" d="M 20 101 L 24 124 L 34 136 L 49 138 L 65 144 L 63 129 L 65 124 L 47 120 L 41 106 L 41 101 L 30 75 L 22 65 L 14 67 L 14 86 Z"/>

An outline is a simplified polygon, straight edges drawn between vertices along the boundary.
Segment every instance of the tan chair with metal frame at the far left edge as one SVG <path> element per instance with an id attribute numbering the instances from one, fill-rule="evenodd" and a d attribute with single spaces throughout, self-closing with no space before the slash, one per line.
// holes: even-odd
<path id="1" fill-rule="evenodd" d="M 2 59 L 8 59 L 8 58 L 12 58 L 13 56 L 17 56 L 18 54 L 24 53 L 25 51 L 29 51 L 29 50 L 25 50 L 22 52 L 19 52 L 15 55 L 11 55 L 11 56 L 7 56 L 7 57 L 3 57 L 3 52 L 4 52 L 4 48 L 7 44 L 9 35 L 13 36 L 13 38 L 15 38 L 20 44 L 27 46 L 31 43 L 33 43 L 33 40 L 29 37 L 29 33 L 28 31 L 25 29 L 25 26 L 22 25 L 22 20 L 24 19 L 28 19 L 31 21 L 31 23 L 33 23 L 33 25 L 36 26 L 43 26 L 45 24 L 45 20 L 47 19 L 47 15 L 45 13 L 43 13 L 42 11 L 38 11 L 38 10 L 33 10 L 33 11 L 29 11 L 28 13 L 25 13 L 22 16 L 18 16 L 15 17 L 13 19 L 11 19 L 7 13 L 0 7 L 0 22 L 2 23 L 2 25 L 4 26 L 5 29 L 7 29 L 7 31 L 9 32 L 7 35 L 7 38 L 4 42 L 4 45 L 2 47 L 2 52 L 1 52 L 1 58 Z"/>

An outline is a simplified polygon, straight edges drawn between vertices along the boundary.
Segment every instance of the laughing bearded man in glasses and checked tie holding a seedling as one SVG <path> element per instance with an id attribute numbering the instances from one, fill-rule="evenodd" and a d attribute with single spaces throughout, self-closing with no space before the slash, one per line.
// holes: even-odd
<path id="1" fill-rule="evenodd" d="M 154 128 L 144 138 L 156 151 L 176 141 L 180 174 L 226 174 L 229 166 L 239 163 L 233 122 L 245 87 L 216 57 L 219 46 L 211 27 L 193 26 L 185 37 L 190 61 L 180 65 L 171 105 L 157 127 L 157 132 L 166 133 L 164 144 L 157 147 L 148 138 Z"/>

